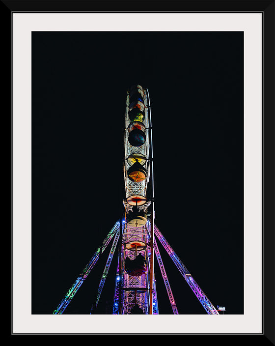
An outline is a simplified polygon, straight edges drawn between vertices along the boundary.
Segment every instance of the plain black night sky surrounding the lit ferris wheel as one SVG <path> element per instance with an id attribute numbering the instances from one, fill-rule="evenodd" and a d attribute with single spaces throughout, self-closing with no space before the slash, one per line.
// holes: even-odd
<path id="1" fill-rule="evenodd" d="M 123 213 L 135 83 L 151 100 L 155 223 L 212 304 L 243 314 L 243 58 L 243 32 L 32 33 L 32 314 L 53 313 Z M 109 251 L 64 314 L 90 313 Z M 205 314 L 162 257 L 179 313 Z"/>

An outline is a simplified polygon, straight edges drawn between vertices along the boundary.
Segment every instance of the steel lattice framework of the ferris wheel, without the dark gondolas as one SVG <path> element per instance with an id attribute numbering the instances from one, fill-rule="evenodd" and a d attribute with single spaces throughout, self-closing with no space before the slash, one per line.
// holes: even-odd
<path id="1" fill-rule="evenodd" d="M 139 91 L 144 99 L 144 119 L 142 119 L 142 124 L 139 122 L 138 126 L 143 126 L 145 141 L 142 145 L 134 146 L 129 143 L 128 135 L 130 127 L 134 122 L 131 122 L 129 117 L 129 111 L 131 110 L 130 104 L 130 92 L 127 92 L 126 96 L 126 113 L 125 113 L 125 136 L 124 136 L 124 148 L 125 148 L 125 160 L 124 160 L 124 181 L 125 181 L 125 200 L 123 200 L 123 205 L 125 207 L 125 216 L 121 218 L 113 226 L 111 231 L 108 233 L 107 237 L 104 239 L 102 246 L 100 246 L 93 257 L 89 260 L 82 273 L 78 276 L 72 287 L 65 294 L 65 297 L 61 300 L 60 304 L 54 311 L 55 315 L 63 314 L 64 310 L 68 304 L 72 301 L 73 297 L 83 284 L 83 282 L 88 277 L 89 273 L 95 266 L 100 255 L 106 250 L 107 246 L 110 244 L 113 239 L 112 245 L 110 247 L 110 253 L 103 270 L 101 281 L 98 288 L 98 293 L 96 297 L 95 308 L 98 305 L 102 289 L 108 275 L 110 264 L 113 259 L 114 252 L 117 248 L 118 250 L 118 263 L 115 277 L 115 288 L 114 288 L 114 299 L 113 299 L 113 315 L 129 315 L 129 314 L 159 314 L 157 290 L 155 284 L 154 276 L 154 257 L 156 257 L 159 264 L 162 277 L 164 280 L 165 288 L 167 295 L 170 301 L 171 309 L 174 315 L 178 315 L 178 309 L 175 303 L 174 296 L 172 294 L 172 289 L 170 287 L 167 273 L 165 271 L 165 266 L 157 245 L 155 241 L 156 236 L 160 243 L 163 245 L 165 251 L 172 259 L 179 272 L 188 283 L 189 287 L 192 289 L 192 292 L 198 298 L 199 302 L 205 309 L 206 313 L 209 315 L 219 315 L 218 311 L 214 308 L 212 303 L 206 297 L 201 288 L 197 285 L 193 279 L 190 272 L 187 270 L 183 262 L 175 254 L 171 246 L 166 241 L 163 234 L 159 231 L 157 226 L 154 224 L 154 198 L 148 200 L 146 197 L 147 185 L 150 177 L 150 170 L 153 172 L 153 162 L 150 162 L 149 148 L 151 145 L 151 159 L 152 159 L 152 143 L 150 144 L 150 139 L 152 136 L 151 132 L 151 113 L 150 113 L 150 102 L 148 90 L 140 89 Z M 141 91 L 140 91 L 141 90 Z M 138 111 L 139 112 L 139 111 Z M 149 119 L 150 118 L 150 119 Z M 141 121 L 141 120 L 139 120 Z M 141 125 L 140 125 L 141 124 Z M 128 126 L 130 126 L 128 128 Z M 129 168 L 131 164 L 128 162 L 127 158 L 135 154 L 140 154 L 144 159 L 143 163 L 143 172 L 145 170 L 146 176 L 142 181 L 133 181 L 129 178 Z M 137 156 L 136 156 L 137 157 Z M 152 160 L 151 160 L 152 161 Z M 151 163 L 151 167 L 150 167 Z M 153 179 L 153 178 L 152 178 Z M 142 198 L 143 203 L 138 205 L 129 202 L 129 199 L 133 196 L 139 196 Z M 136 198 L 136 197 L 135 197 Z M 145 218 L 145 222 L 139 223 L 139 219 L 133 222 L 133 220 L 127 218 L 127 215 L 135 212 L 143 213 L 147 215 L 148 208 L 151 206 L 151 222 Z M 139 215 L 139 214 L 137 214 Z M 134 220 L 136 220 L 134 218 Z M 151 224 L 153 225 L 151 229 Z M 142 264 L 142 270 L 140 272 L 131 272 L 127 270 L 126 261 L 135 262 L 138 259 L 138 256 L 141 256 L 144 259 Z M 138 309 L 135 310 L 134 309 Z M 92 313 L 92 312 L 91 312 Z"/>

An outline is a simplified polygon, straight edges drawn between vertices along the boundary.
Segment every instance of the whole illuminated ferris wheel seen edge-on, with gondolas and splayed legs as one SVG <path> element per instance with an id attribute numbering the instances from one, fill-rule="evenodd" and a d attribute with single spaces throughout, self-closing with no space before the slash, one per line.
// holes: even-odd
<path id="1" fill-rule="evenodd" d="M 100 280 L 95 308 L 99 302 L 115 250 L 118 248 L 112 314 L 159 314 L 154 277 L 154 259 L 156 258 L 165 283 L 172 313 L 178 315 L 179 312 L 155 237 L 163 245 L 206 313 L 219 315 L 218 311 L 222 310 L 215 309 L 154 223 L 151 107 L 148 89 L 144 89 L 140 85 L 132 86 L 127 91 L 124 148 L 125 199 L 123 205 L 125 213 L 115 223 L 102 245 L 97 249 L 65 297 L 58 304 L 54 315 L 64 313 L 111 241 L 110 253 Z M 148 199 L 147 186 L 150 176 L 152 191 Z"/>

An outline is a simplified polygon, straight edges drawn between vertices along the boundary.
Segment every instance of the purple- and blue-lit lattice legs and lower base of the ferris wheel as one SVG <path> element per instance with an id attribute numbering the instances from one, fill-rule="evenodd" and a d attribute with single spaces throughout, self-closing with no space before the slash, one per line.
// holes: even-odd
<path id="1" fill-rule="evenodd" d="M 122 224 L 121 226 L 122 227 L 120 227 L 119 221 L 114 225 L 112 230 L 109 232 L 109 234 L 105 238 L 102 247 L 98 248 L 98 250 L 93 255 L 92 259 L 87 263 L 87 265 L 83 269 L 82 274 L 80 274 L 80 276 L 77 278 L 77 280 L 72 285 L 72 287 L 68 290 L 68 292 L 66 293 L 65 297 L 62 299 L 60 304 L 58 304 L 56 310 L 54 311 L 55 315 L 63 314 L 64 310 L 66 309 L 68 304 L 72 301 L 72 299 L 75 296 L 75 294 L 77 293 L 78 289 L 81 287 L 81 285 L 86 280 L 89 273 L 91 272 L 92 268 L 95 266 L 97 260 L 99 259 L 99 254 L 104 252 L 104 250 L 106 249 L 108 244 L 110 244 L 111 239 L 114 237 L 114 240 L 113 240 L 113 243 L 112 243 L 112 246 L 110 249 L 110 254 L 108 256 L 106 266 L 105 266 L 104 271 L 103 271 L 102 279 L 101 279 L 101 282 L 100 282 L 99 288 L 98 288 L 98 295 L 97 295 L 97 303 L 98 303 L 100 295 L 101 295 L 101 291 L 104 287 L 105 279 L 107 277 L 107 274 L 108 274 L 108 271 L 110 268 L 111 260 L 113 259 L 114 250 L 115 250 L 115 247 L 118 243 L 120 230 L 122 230 L 122 232 L 125 234 L 124 235 L 125 240 L 127 239 L 127 237 L 130 234 L 129 230 L 127 230 L 127 225 Z M 147 238 L 149 238 L 148 228 L 150 228 L 149 222 L 148 222 L 148 225 L 145 229 L 146 233 L 144 232 L 144 234 L 142 234 L 142 236 L 147 237 Z M 208 315 L 219 315 L 219 312 L 215 309 L 215 307 L 210 302 L 210 300 L 207 298 L 205 293 L 202 291 L 202 289 L 195 282 L 194 278 L 192 277 L 190 272 L 187 270 L 186 266 L 179 259 L 177 254 L 174 252 L 174 250 L 169 245 L 169 243 L 167 242 L 167 240 L 165 239 L 165 237 L 163 236 L 163 234 L 157 228 L 156 225 L 154 227 L 154 231 L 155 231 L 155 235 L 157 236 L 158 240 L 161 242 L 165 251 L 167 252 L 169 257 L 172 259 L 172 261 L 174 262 L 174 264 L 178 268 L 180 274 L 183 276 L 185 281 L 188 283 L 189 287 L 192 289 L 192 292 L 198 298 L 199 302 L 201 303 L 201 305 L 205 309 L 206 313 Z M 132 235 L 130 235 L 130 236 L 131 236 L 131 239 L 133 239 Z M 159 252 L 159 249 L 158 249 L 156 242 L 154 243 L 154 249 L 155 249 L 155 255 L 156 255 L 157 260 L 158 260 L 158 264 L 159 264 L 160 269 L 161 269 L 162 277 L 163 277 L 163 280 L 165 283 L 165 288 L 166 288 L 167 293 L 168 293 L 168 298 L 169 298 L 169 301 L 171 304 L 172 312 L 174 315 L 178 315 L 179 312 L 178 312 L 177 307 L 176 307 L 175 299 L 173 297 L 172 290 L 171 290 L 171 287 L 170 287 L 169 282 L 168 282 L 167 274 L 165 272 L 164 263 L 161 259 L 160 252 Z M 122 252 L 123 251 L 124 250 L 122 250 Z M 133 254 L 131 254 L 131 255 L 133 255 Z M 148 261 L 150 262 L 150 254 L 148 254 L 148 255 L 149 255 Z M 114 288 L 114 299 L 113 299 L 113 310 L 112 310 L 113 315 L 127 314 L 129 312 L 129 310 L 131 310 L 131 308 L 133 307 L 133 305 L 134 305 L 133 301 L 135 299 L 142 306 L 142 310 L 143 310 L 144 314 L 148 314 L 148 304 L 149 304 L 149 302 L 148 302 L 148 274 L 149 273 L 146 273 L 146 275 L 144 275 L 142 277 L 138 277 L 138 278 L 137 277 L 130 278 L 129 275 L 124 273 L 123 274 L 124 277 L 121 277 L 121 270 L 119 268 L 119 263 L 117 264 L 115 288 Z M 123 282 L 124 282 L 124 288 L 125 289 L 121 289 L 122 288 L 121 283 L 123 283 Z M 153 297 L 154 297 L 153 298 L 153 309 L 154 309 L 153 314 L 158 314 L 159 308 L 158 308 L 158 299 L 157 299 L 155 280 L 154 280 L 153 292 L 154 292 L 154 294 L 153 294 Z M 119 306 L 121 304 L 122 299 L 124 299 L 126 301 L 126 303 L 123 305 L 123 309 L 121 311 L 119 311 Z"/>

